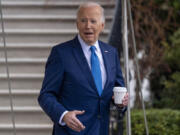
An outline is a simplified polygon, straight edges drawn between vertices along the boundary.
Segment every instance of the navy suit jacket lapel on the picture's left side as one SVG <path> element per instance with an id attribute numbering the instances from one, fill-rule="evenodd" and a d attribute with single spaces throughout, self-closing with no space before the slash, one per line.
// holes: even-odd
<path id="1" fill-rule="evenodd" d="M 92 88 L 96 90 L 96 85 L 94 83 L 93 76 L 91 74 L 91 70 L 89 68 L 86 57 L 84 56 L 83 50 L 81 48 L 81 45 L 79 43 L 77 36 L 74 39 L 73 53 L 74 53 L 74 56 L 75 56 L 77 62 L 79 63 L 79 67 L 81 68 L 83 74 L 87 78 L 90 86 L 92 86 Z M 97 92 L 97 90 L 96 90 L 96 92 Z M 97 92 L 97 94 L 98 94 L 98 92 Z"/>

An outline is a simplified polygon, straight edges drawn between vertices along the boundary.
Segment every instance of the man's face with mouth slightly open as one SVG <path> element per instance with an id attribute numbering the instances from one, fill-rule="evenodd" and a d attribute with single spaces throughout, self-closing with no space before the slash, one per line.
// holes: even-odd
<path id="1" fill-rule="evenodd" d="M 77 28 L 81 38 L 88 45 L 93 45 L 104 29 L 100 7 L 92 6 L 81 8 L 77 17 Z"/>

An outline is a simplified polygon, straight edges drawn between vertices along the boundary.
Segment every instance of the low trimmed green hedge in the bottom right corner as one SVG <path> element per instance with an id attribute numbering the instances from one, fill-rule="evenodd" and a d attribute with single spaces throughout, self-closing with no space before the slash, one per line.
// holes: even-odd
<path id="1" fill-rule="evenodd" d="M 149 135 L 180 135 L 180 111 L 147 110 Z M 131 112 L 132 135 L 146 135 L 142 110 Z M 126 131 L 124 130 L 124 135 Z"/>

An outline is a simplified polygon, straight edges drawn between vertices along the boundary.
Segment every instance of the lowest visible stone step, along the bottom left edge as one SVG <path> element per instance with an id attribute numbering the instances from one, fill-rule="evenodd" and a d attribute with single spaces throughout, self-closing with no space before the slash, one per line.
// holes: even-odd
<path id="1" fill-rule="evenodd" d="M 0 135 L 14 135 L 12 124 L 0 124 Z M 16 124 L 16 135 L 51 135 L 52 124 Z"/>

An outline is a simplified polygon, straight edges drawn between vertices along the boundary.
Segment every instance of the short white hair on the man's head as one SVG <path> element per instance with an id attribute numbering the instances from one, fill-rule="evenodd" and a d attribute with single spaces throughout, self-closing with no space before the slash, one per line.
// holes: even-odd
<path id="1" fill-rule="evenodd" d="M 85 2 L 85 3 L 80 4 L 80 6 L 77 10 L 77 18 L 78 18 L 78 14 L 79 14 L 81 8 L 94 7 L 94 6 L 100 7 L 100 9 L 101 9 L 101 21 L 102 21 L 102 23 L 105 23 L 104 8 L 96 2 Z"/>

